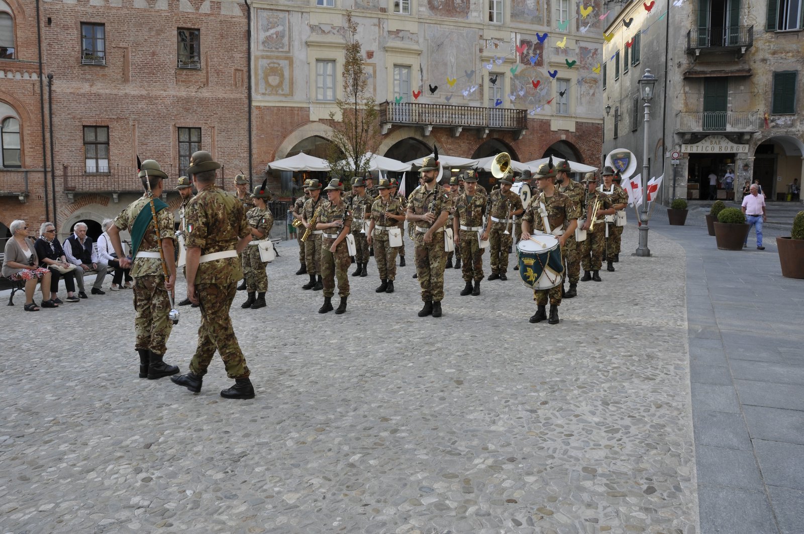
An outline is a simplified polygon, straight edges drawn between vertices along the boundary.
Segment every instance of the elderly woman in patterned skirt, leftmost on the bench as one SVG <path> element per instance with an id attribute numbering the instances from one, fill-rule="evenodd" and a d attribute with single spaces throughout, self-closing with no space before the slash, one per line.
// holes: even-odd
<path id="1" fill-rule="evenodd" d="M 34 302 L 34 291 L 36 282 L 42 281 L 42 306 L 50 300 L 50 279 L 51 273 L 44 267 L 39 267 L 39 257 L 36 255 L 34 243 L 28 239 L 24 220 L 14 220 L 10 224 L 9 230 L 11 238 L 6 241 L 6 258 L 2 264 L 2 275 L 11 280 L 25 281 L 25 310 L 39 311 L 39 306 Z"/>

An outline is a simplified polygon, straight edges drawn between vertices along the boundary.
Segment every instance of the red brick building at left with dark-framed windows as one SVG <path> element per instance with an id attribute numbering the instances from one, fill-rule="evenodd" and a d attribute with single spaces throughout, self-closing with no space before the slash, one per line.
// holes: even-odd
<path id="1" fill-rule="evenodd" d="M 59 233 L 78 220 L 89 224 L 90 235 L 98 233 L 101 220 L 141 194 L 137 155 L 156 159 L 166 170 L 169 203 L 176 203 L 173 187 L 195 150 L 210 150 L 224 164 L 227 187 L 240 170 L 248 173 L 244 2 L 51 0 L 39 6 L 44 72 L 52 76 L 44 80 L 47 167 L 51 115 L 55 180 L 48 173 L 46 205 L 39 80 L 29 79 L 38 77 L 35 4 L 0 0 L 0 23 L 5 9 L 17 55 L 0 60 L 6 78 L 13 78 L 0 78 L 0 106 L 21 119 L 21 167 L 39 172 L 28 180 L 27 203 L 0 197 L 0 223 L 24 216 L 38 228 L 49 214 Z M 9 113 L 3 109 L 4 116 Z M 4 180 L 19 174 L 3 166 Z"/>

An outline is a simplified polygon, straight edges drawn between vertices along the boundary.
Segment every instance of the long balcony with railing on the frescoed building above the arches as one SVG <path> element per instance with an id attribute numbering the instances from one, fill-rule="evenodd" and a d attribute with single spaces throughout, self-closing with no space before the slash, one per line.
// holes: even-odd
<path id="1" fill-rule="evenodd" d="M 384 134 L 392 125 L 417 125 L 425 129 L 446 126 L 456 129 L 457 134 L 463 128 L 523 132 L 527 129 L 527 109 L 385 101 L 379 105 L 379 123 Z"/>

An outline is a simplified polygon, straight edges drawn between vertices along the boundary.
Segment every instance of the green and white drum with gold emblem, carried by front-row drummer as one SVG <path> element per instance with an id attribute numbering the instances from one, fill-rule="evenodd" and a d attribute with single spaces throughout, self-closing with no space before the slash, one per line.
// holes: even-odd
<path id="1" fill-rule="evenodd" d="M 531 235 L 531 239 L 516 244 L 516 256 L 519 277 L 531 290 L 549 290 L 561 285 L 564 262 L 561 261 L 561 247 L 556 236 Z"/>

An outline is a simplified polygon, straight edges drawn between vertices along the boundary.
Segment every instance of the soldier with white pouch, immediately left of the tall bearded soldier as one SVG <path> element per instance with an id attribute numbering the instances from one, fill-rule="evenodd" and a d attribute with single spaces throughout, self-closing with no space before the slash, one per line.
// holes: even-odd
<path id="1" fill-rule="evenodd" d="M 368 225 L 368 244 L 375 248 L 374 259 L 379 270 L 379 287 L 375 293 L 393 293 L 396 279 L 396 251 L 388 243 L 388 231 L 392 228 L 402 232 L 407 203 L 400 196 L 392 196 L 393 186 L 388 179 L 380 179 L 377 186 L 379 199 L 371 204 L 371 222 Z"/>

